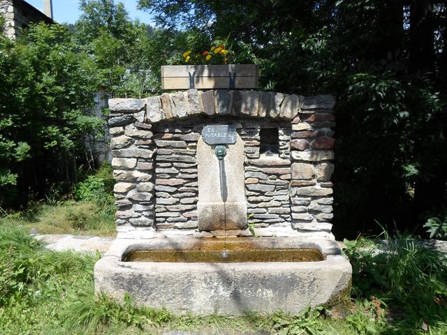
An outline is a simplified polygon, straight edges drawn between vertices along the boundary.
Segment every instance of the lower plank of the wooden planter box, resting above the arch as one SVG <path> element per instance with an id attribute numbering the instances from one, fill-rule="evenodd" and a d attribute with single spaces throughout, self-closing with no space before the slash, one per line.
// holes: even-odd
<path id="1" fill-rule="evenodd" d="M 195 77 L 196 89 L 229 89 L 229 77 Z M 162 89 L 189 89 L 188 77 L 164 77 L 161 78 Z M 258 88 L 258 77 L 235 77 L 235 89 Z"/>

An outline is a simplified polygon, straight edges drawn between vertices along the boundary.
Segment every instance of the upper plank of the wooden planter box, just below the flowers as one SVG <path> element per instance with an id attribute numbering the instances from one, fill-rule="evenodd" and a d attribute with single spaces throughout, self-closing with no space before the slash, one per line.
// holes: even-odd
<path id="1" fill-rule="evenodd" d="M 173 65 L 161 66 L 161 77 L 228 77 L 228 73 L 235 73 L 238 77 L 256 77 L 258 66 L 255 64 L 229 65 Z"/>

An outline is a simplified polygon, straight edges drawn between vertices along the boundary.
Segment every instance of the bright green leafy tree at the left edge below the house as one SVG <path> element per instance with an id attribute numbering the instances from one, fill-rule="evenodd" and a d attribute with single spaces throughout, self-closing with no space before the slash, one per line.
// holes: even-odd
<path id="1" fill-rule="evenodd" d="M 0 37 L 0 194 L 9 205 L 73 181 L 85 135 L 103 121 L 89 117 L 94 64 L 57 24 L 31 26 L 17 43 Z"/>

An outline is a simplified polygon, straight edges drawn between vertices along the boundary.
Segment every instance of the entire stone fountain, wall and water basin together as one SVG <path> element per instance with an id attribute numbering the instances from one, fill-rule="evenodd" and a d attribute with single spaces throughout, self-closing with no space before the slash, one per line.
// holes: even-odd
<path id="1" fill-rule="evenodd" d="M 334 103 L 224 89 L 111 99 L 118 234 L 96 290 L 202 315 L 343 306 Z"/>

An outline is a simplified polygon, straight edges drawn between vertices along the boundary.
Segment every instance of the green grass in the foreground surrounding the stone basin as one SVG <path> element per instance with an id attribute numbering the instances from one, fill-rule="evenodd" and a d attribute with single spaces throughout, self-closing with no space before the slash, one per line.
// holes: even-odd
<path id="1" fill-rule="evenodd" d="M 447 334 L 445 255 L 417 241 L 391 241 L 348 241 L 353 305 L 344 320 L 328 317 L 323 307 L 300 315 L 200 317 L 138 307 L 131 297 L 124 297 L 124 304 L 106 295 L 96 297 L 93 267 L 98 255 L 49 251 L 23 226 L 3 225 L 1 334 Z"/>

